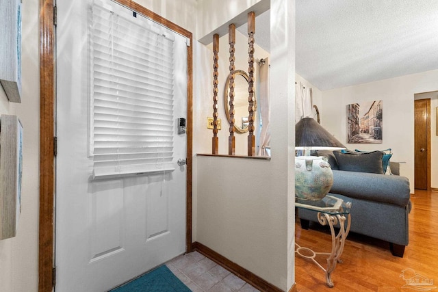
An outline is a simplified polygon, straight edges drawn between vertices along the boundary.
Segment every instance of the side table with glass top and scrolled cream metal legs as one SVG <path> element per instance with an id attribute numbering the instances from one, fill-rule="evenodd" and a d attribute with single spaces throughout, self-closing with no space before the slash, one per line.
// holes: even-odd
<path id="1" fill-rule="evenodd" d="M 331 252 L 314 252 L 310 248 L 303 248 L 295 243 L 295 252 L 304 258 L 311 259 L 326 273 L 327 286 L 333 287 L 331 274 L 335 270 L 336 263 L 342 263 L 340 257 L 344 250 L 345 239 L 350 231 L 350 208 L 352 202 L 344 202 L 334 196 L 325 196 L 322 200 L 311 201 L 295 198 L 295 207 L 298 209 L 307 209 L 318 212 L 318 221 L 322 225 L 329 225 L 331 231 L 332 248 Z M 336 232 L 334 226 L 339 224 L 339 231 Z M 338 227 L 338 226 L 337 226 Z M 326 255 L 327 266 L 322 267 L 315 257 L 317 255 Z"/>

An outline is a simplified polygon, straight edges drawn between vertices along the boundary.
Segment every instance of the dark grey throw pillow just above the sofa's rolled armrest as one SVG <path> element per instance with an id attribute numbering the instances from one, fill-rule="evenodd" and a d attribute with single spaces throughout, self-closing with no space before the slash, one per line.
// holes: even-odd
<path id="1" fill-rule="evenodd" d="M 339 165 L 339 170 L 383 174 L 383 152 L 381 151 L 346 153 L 333 151 L 333 153 Z"/>

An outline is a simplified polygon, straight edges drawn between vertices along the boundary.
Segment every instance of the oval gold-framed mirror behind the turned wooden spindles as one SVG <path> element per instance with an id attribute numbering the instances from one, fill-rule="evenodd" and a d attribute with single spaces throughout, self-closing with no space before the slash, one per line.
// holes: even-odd
<path id="1" fill-rule="evenodd" d="M 224 89 L 224 107 L 227 120 L 231 124 L 230 117 L 230 78 L 228 76 Z M 248 74 L 243 70 L 234 71 L 234 129 L 237 133 L 248 132 Z M 255 101 L 254 92 L 254 117 L 257 111 L 257 103 Z"/>

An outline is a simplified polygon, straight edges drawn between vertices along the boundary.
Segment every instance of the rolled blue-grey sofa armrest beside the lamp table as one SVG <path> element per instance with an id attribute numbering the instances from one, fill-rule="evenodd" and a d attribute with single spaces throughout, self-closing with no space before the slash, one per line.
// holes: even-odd
<path id="1" fill-rule="evenodd" d="M 333 170 L 333 194 L 397 204 L 406 207 L 411 198 L 409 180 L 404 176 L 389 176 L 365 172 Z"/>

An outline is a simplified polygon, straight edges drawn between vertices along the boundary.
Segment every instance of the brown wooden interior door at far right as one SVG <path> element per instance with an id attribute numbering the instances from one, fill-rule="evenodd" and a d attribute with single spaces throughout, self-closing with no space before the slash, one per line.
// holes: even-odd
<path id="1" fill-rule="evenodd" d="M 415 189 L 430 188 L 430 98 L 415 105 Z"/>

